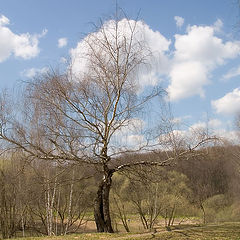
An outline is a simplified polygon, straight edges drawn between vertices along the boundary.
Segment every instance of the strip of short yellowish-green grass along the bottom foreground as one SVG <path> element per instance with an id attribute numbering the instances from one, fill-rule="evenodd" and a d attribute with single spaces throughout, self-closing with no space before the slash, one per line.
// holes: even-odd
<path id="1" fill-rule="evenodd" d="M 85 233 L 72 234 L 67 236 L 54 237 L 35 237 L 35 238 L 17 238 L 18 240 L 100 240 L 100 239 L 118 239 L 118 240 L 240 240 L 240 223 L 224 223 L 211 225 L 178 225 L 172 228 L 172 231 L 158 229 L 156 234 L 144 233 Z"/>

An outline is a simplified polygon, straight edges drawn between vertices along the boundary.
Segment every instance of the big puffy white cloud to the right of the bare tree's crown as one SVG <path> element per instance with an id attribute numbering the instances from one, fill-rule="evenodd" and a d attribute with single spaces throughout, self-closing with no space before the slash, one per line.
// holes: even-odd
<path id="1" fill-rule="evenodd" d="M 220 23 L 218 23 L 220 25 Z M 209 75 L 226 59 L 240 54 L 240 42 L 223 42 L 214 26 L 190 26 L 187 33 L 175 35 L 175 52 L 170 70 L 168 93 L 175 101 L 194 95 L 204 96 Z"/>

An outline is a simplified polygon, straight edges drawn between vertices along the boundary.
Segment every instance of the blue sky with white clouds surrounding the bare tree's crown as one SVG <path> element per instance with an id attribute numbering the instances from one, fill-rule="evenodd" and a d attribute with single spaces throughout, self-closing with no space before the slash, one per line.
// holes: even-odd
<path id="1" fill-rule="evenodd" d="M 0 88 L 18 86 L 57 67 L 91 30 L 109 19 L 115 0 L 0 0 Z M 240 110 L 240 16 L 236 0 L 119 0 L 126 14 L 166 44 L 158 81 L 169 91 L 173 115 L 187 127 L 224 135 Z M 159 36 L 158 36 L 159 37 Z M 164 41 L 163 41 L 164 38 Z M 163 41 L 163 42 L 161 42 Z M 167 44 L 168 43 L 168 44 Z M 156 45 L 157 46 L 157 45 Z M 163 69 L 163 68 L 168 69 Z"/>

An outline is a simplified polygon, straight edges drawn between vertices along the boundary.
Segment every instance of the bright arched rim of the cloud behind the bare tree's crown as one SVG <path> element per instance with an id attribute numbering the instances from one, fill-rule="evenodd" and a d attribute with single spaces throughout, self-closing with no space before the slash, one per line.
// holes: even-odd
<path id="1" fill-rule="evenodd" d="M 129 25 L 134 28 L 136 25 L 135 35 L 133 39 L 133 44 L 136 42 L 145 42 L 151 51 L 151 55 L 146 57 L 146 65 L 143 65 L 139 70 L 139 85 L 144 88 L 145 86 L 156 85 L 160 81 L 160 76 L 167 74 L 169 68 L 169 59 L 166 56 L 166 53 L 169 51 L 169 45 L 171 41 L 166 39 L 160 32 L 153 31 L 150 27 L 142 21 L 134 21 L 122 19 L 118 24 L 118 31 L 120 33 L 120 41 L 124 41 L 124 37 L 127 39 L 131 36 L 131 29 Z M 115 21 L 110 20 L 103 24 L 102 29 L 98 32 L 94 32 L 86 36 L 82 41 L 77 44 L 77 47 L 71 49 L 71 57 L 73 59 L 72 71 L 75 74 L 82 75 L 88 71 L 89 60 L 86 56 L 89 56 L 89 44 L 94 48 L 96 53 L 99 53 L 101 56 L 107 53 L 104 53 L 104 49 L 101 48 L 96 41 L 103 40 L 104 35 L 102 30 L 110 43 L 114 44 L 114 34 L 115 34 Z M 136 46 L 136 45 L 135 45 Z M 106 60 L 104 60 L 106 61 Z M 147 66 L 147 67 L 146 67 Z"/>

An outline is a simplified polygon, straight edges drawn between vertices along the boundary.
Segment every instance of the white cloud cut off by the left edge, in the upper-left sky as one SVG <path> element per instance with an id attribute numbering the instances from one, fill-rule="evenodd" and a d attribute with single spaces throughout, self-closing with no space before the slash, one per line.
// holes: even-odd
<path id="1" fill-rule="evenodd" d="M 9 23 L 7 17 L 0 16 L 0 62 L 11 55 L 23 59 L 36 57 L 40 52 L 39 39 L 47 33 L 47 30 L 43 30 L 41 34 L 15 34 L 7 27 Z"/>

